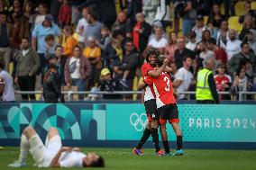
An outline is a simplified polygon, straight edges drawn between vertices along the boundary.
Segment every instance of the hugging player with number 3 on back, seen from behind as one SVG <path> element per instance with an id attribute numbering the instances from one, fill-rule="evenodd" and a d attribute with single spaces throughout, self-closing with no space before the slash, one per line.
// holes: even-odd
<path id="1" fill-rule="evenodd" d="M 164 56 L 157 58 L 157 64 L 159 67 L 162 67 L 162 65 L 168 62 L 168 59 Z M 182 146 L 182 135 L 181 130 L 179 130 L 178 127 L 178 107 L 172 91 L 172 84 L 169 74 L 166 72 L 161 72 L 160 76 L 156 78 L 152 76 L 146 76 L 144 81 L 148 85 L 153 86 L 156 95 L 157 111 L 160 114 L 161 138 L 163 140 L 166 154 L 171 156 L 183 155 L 184 150 Z M 169 121 L 177 136 L 177 150 L 174 152 L 174 154 L 169 152 L 168 135 L 166 132 L 167 121 Z"/>

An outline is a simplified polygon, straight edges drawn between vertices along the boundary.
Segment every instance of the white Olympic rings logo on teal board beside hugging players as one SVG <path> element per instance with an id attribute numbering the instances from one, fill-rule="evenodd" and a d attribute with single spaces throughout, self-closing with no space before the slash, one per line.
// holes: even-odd
<path id="1" fill-rule="evenodd" d="M 130 116 L 130 123 L 137 131 L 142 131 L 148 124 L 147 114 L 142 113 L 140 116 L 136 112 L 133 112 Z"/>

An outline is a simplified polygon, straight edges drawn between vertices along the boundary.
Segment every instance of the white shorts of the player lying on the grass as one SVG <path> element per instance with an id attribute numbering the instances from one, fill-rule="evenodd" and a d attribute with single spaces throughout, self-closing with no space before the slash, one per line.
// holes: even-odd
<path id="1" fill-rule="evenodd" d="M 45 146 L 43 145 L 38 134 L 29 139 L 30 153 L 36 165 L 39 167 L 49 167 L 53 157 L 56 156 L 59 149 L 62 147 L 59 135 L 46 139 Z"/>

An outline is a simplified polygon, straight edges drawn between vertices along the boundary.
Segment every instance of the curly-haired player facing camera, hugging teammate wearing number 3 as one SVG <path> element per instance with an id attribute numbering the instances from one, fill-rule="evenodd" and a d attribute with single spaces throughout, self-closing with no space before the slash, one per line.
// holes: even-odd
<path id="1" fill-rule="evenodd" d="M 166 66 L 162 65 L 158 69 L 156 67 L 156 58 L 158 58 L 160 52 L 158 49 L 149 49 L 145 55 L 147 63 L 142 65 L 142 76 L 152 76 L 158 77 L 163 70 L 166 70 Z M 158 134 L 158 126 L 159 126 L 159 116 L 157 112 L 157 105 L 155 100 L 154 90 L 151 85 L 145 87 L 144 92 L 144 106 L 148 116 L 148 125 L 147 128 L 143 131 L 142 139 L 140 140 L 137 147 L 133 148 L 134 155 L 142 155 L 142 146 L 147 141 L 147 139 L 152 137 L 153 143 L 156 149 L 157 156 L 163 156 L 164 152 L 160 149 L 159 146 L 159 134 Z"/>

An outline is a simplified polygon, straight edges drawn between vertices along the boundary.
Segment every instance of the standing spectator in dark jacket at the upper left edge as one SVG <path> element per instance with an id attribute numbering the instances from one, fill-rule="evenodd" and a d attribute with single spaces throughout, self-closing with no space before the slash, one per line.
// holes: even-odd
<path id="1" fill-rule="evenodd" d="M 5 12 L 0 12 L 0 53 L 1 60 L 5 64 L 5 70 L 9 71 L 9 63 L 11 60 L 11 47 L 13 46 L 13 41 L 11 39 L 13 35 L 13 25 L 6 22 L 7 14 Z"/>

